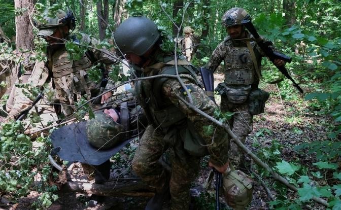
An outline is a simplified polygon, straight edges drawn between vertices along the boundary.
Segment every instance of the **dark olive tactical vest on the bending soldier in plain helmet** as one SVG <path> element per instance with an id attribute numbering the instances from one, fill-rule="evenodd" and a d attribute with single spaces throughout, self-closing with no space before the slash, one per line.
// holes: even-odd
<path id="1" fill-rule="evenodd" d="M 172 61 L 163 63 L 161 71 L 160 68 L 152 69 L 151 71 L 155 71 L 153 75 L 176 75 L 175 66 L 171 63 Z M 160 66 L 160 63 L 157 64 L 157 66 Z M 156 64 L 153 66 L 155 65 Z M 188 64 L 179 64 L 178 72 L 179 75 L 189 75 L 190 78 L 192 78 L 192 82 L 195 84 L 197 83 L 194 69 L 192 69 Z M 162 128 L 163 130 L 166 130 L 171 125 L 184 122 L 183 120 L 186 118 L 185 115 L 177 107 L 175 107 L 168 98 L 163 97 L 162 95 L 162 85 L 168 79 L 168 77 L 160 77 L 150 80 L 141 80 L 138 81 L 135 86 L 135 94 L 139 104 L 141 104 L 145 110 L 148 122 L 153 124 L 155 127 Z"/>

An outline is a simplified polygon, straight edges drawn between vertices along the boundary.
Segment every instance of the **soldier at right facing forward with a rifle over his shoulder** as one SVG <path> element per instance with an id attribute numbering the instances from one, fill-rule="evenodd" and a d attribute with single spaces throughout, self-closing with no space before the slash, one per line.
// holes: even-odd
<path id="1" fill-rule="evenodd" d="M 223 15 L 222 24 L 229 36 L 217 46 L 205 66 L 215 71 L 224 61 L 225 80 L 216 88 L 221 95 L 220 109 L 222 112 L 234 112 L 230 126 L 243 143 L 253 129 L 253 115 L 257 114 L 250 113 L 249 95 L 258 89 L 260 74 L 257 71 L 261 67 L 262 57 L 265 56 L 252 34 L 242 25 L 243 20 L 249 19 L 250 15 L 243 8 L 232 8 Z M 275 65 L 285 65 L 285 61 L 276 59 Z M 264 104 L 265 101 L 262 102 Z M 238 147 L 231 142 L 230 160 L 233 165 L 240 164 L 241 154 Z"/>

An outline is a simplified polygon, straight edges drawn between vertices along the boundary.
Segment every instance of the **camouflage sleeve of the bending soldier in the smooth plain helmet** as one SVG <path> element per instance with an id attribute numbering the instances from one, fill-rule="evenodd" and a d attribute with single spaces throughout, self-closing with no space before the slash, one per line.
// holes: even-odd
<path id="1" fill-rule="evenodd" d="M 216 104 L 206 96 L 201 88 L 193 83 L 190 83 L 190 81 L 187 79 L 184 79 L 183 81 L 187 88 L 190 89 L 194 106 L 202 112 L 210 116 L 214 116 L 214 111 L 219 109 Z M 186 101 L 189 101 L 179 81 L 175 79 L 167 80 L 163 83 L 162 92 L 165 97 L 169 98 L 170 101 L 172 101 L 172 103 L 179 108 L 183 114 L 185 114 L 187 119 L 193 123 L 197 133 L 206 142 L 208 151 L 211 155 L 210 161 L 218 166 L 224 165 L 228 160 L 229 141 L 227 133 L 222 128 L 217 127 L 209 119 L 204 118 L 199 113 L 190 109 L 183 101 L 178 98 L 178 96 L 180 96 Z M 208 132 L 208 127 L 212 127 L 213 132 Z"/>

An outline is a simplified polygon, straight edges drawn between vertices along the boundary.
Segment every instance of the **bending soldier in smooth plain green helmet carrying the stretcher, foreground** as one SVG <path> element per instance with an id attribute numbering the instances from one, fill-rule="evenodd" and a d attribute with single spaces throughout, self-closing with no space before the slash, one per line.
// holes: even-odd
<path id="1" fill-rule="evenodd" d="M 143 16 L 128 18 L 118 26 L 114 38 L 118 50 L 134 64 L 139 77 L 176 75 L 175 57 L 160 49 L 162 37 L 150 19 Z M 197 86 L 194 66 L 180 58 L 177 63 L 193 106 L 214 116 L 218 108 Z M 175 78 L 140 80 L 135 84 L 135 94 L 149 125 L 140 139 L 132 168 L 156 189 L 146 209 L 161 209 L 169 193 L 172 209 L 188 209 L 190 183 L 197 175 L 200 157 L 209 154 L 210 166 L 220 172 L 227 169 L 227 135 L 179 99 L 189 101 L 184 87 Z M 206 126 L 212 126 L 215 132 L 206 132 Z M 171 173 L 159 161 L 167 149 L 170 151 Z"/>

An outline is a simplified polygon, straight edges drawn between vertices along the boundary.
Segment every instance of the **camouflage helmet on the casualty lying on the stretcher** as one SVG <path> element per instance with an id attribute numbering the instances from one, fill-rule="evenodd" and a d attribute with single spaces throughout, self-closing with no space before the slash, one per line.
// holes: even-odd
<path id="1" fill-rule="evenodd" d="M 100 149 L 112 148 L 125 139 L 123 125 L 103 111 L 95 112 L 95 118 L 86 122 L 86 134 L 90 145 Z"/>

